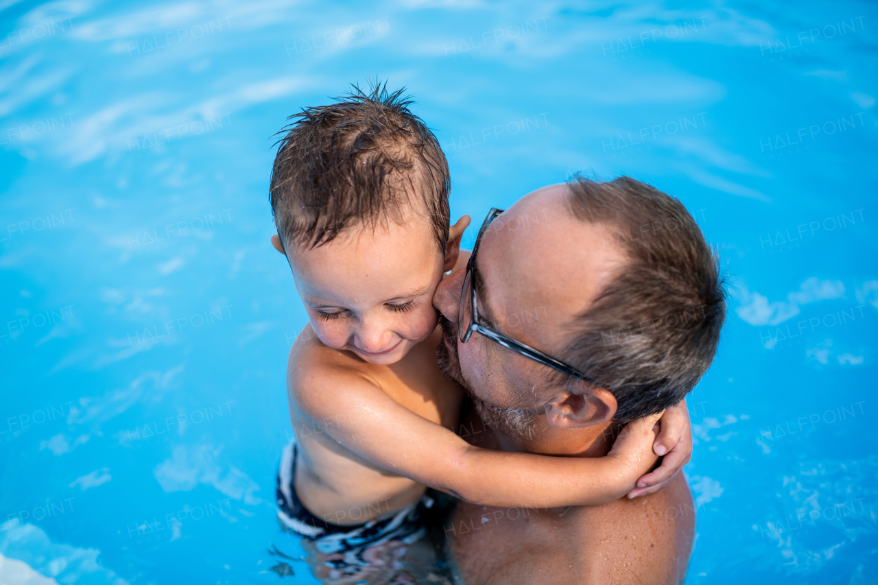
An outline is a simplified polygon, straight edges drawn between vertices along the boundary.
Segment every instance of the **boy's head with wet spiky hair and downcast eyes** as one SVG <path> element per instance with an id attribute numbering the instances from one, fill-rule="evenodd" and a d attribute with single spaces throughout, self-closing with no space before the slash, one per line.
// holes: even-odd
<path id="1" fill-rule="evenodd" d="M 449 227 L 442 148 L 401 97 L 375 84 L 292 116 L 271 173 L 272 244 L 290 262 L 320 341 L 392 364 L 435 329 Z"/>

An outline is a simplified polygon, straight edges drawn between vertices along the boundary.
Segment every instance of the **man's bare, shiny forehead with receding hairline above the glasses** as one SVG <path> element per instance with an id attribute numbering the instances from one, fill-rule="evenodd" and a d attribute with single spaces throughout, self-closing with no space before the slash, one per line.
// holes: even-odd
<path id="1" fill-rule="evenodd" d="M 565 185 L 544 187 L 487 228 L 477 263 L 498 326 L 542 314 L 548 329 L 563 328 L 587 310 L 622 264 L 606 228 L 576 219 L 567 196 Z M 528 329 L 532 337 L 543 337 L 533 325 Z"/>

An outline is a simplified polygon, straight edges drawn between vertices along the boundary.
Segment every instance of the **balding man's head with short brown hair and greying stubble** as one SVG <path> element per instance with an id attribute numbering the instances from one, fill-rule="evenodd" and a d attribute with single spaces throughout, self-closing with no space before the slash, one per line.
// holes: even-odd
<path id="1" fill-rule="evenodd" d="M 457 338 L 464 278 L 434 303 L 440 359 L 483 415 L 522 431 L 625 423 L 682 400 L 707 370 L 724 318 L 716 256 L 677 199 L 629 177 L 534 191 L 480 243 L 474 282 L 486 325 L 584 372 L 567 377 L 479 334 Z"/>

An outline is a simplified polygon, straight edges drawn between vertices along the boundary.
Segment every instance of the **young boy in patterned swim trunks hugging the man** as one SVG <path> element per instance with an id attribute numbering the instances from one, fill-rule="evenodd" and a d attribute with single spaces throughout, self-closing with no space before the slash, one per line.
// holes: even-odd
<path id="1" fill-rule="evenodd" d="M 309 319 L 288 362 L 296 440 L 278 514 L 325 554 L 420 538 L 425 486 L 494 506 L 594 505 L 630 492 L 655 461 L 658 416 L 601 459 L 483 450 L 450 430 L 463 396 L 436 363 L 432 297 L 465 264 L 469 218 L 449 225 L 448 164 L 401 91 L 355 90 L 293 116 L 271 176 L 271 243 Z M 685 420 L 666 414 L 662 435 Z M 676 440 L 665 443 L 663 454 Z"/>

